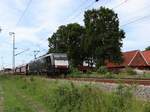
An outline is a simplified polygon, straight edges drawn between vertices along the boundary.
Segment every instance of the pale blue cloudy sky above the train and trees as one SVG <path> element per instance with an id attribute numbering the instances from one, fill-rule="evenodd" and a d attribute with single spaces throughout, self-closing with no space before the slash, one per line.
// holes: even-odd
<path id="1" fill-rule="evenodd" d="M 12 37 L 15 32 L 16 66 L 48 51 L 48 37 L 60 25 L 84 25 L 84 11 L 105 6 L 118 13 L 125 31 L 122 51 L 144 50 L 150 46 L 149 0 L 0 0 L 0 68 L 12 66 Z M 139 21 L 132 22 L 134 20 Z"/>

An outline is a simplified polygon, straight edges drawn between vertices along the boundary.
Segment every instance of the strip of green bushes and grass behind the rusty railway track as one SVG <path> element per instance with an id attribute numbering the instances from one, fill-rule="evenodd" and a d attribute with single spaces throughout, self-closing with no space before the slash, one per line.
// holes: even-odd
<path id="1" fill-rule="evenodd" d="M 105 67 L 98 70 L 83 73 L 77 69 L 72 69 L 68 77 L 99 77 L 99 78 L 150 78 L 150 73 L 137 74 L 133 69 L 126 68 L 118 73 L 113 73 Z"/>

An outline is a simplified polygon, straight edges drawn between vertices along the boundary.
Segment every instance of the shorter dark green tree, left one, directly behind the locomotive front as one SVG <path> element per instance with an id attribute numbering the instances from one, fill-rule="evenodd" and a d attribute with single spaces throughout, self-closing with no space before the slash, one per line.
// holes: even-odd
<path id="1" fill-rule="evenodd" d="M 77 23 L 62 25 L 49 38 L 49 52 L 65 52 L 73 66 L 83 62 L 82 38 L 85 29 Z"/>

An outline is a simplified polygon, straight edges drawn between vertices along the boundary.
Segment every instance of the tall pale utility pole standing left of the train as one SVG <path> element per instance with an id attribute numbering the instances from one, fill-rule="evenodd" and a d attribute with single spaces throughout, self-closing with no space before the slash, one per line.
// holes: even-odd
<path id="1" fill-rule="evenodd" d="M 14 32 L 9 32 L 9 35 L 12 36 L 13 39 L 13 52 L 12 52 L 12 70 L 13 73 L 15 72 L 15 33 Z"/>

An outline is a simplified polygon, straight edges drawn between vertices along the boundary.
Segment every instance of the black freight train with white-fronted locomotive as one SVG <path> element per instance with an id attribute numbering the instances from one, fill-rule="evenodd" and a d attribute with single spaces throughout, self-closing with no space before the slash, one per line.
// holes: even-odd
<path id="1" fill-rule="evenodd" d="M 69 62 L 67 55 L 64 53 L 50 53 L 41 56 L 25 65 L 15 68 L 17 74 L 67 74 L 69 70 Z"/>

